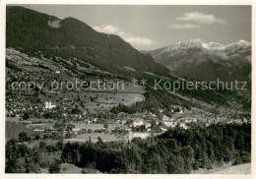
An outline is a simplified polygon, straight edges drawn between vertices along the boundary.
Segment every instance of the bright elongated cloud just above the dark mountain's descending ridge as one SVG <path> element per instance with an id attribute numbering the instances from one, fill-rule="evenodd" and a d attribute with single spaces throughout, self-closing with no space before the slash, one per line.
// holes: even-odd
<path id="1" fill-rule="evenodd" d="M 120 28 L 114 27 L 111 25 L 93 27 L 93 29 L 99 32 L 117 34 L 118 36 L 121 36 L 125 41 L 133 45 L 134 47 L 150 46 L 153 44 L 153 41 L 150 38 L 133 36 L 132 34 L 124 32 Z"/>

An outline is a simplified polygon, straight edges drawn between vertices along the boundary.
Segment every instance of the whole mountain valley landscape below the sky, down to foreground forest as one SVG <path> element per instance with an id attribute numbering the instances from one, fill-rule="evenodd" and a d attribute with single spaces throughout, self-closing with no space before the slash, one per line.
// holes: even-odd
<path id="1" fill-rule="evenodd" d="M 140 52 L 74 18 L 10 6 L 6 22 L 6 173 L 172 174 L 251 161 L 249 42 Z M 216 89 L 217 79 L 248 89 Z M 198 81 L 206 89 L 175 86 Z"/>

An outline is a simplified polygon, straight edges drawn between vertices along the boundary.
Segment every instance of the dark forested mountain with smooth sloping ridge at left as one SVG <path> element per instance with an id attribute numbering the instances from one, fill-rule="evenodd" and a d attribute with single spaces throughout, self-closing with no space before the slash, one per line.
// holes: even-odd
<path id="1" fill-rule="evenodd" d="M 85 12 L 86 13 L 86 12 Z M 42 51 L 77 58 L 115 74 L 153 72 L 167 74 L 150 55 L 140 53 L 114 34 L 100 33 L 79 20 L 41 14 L 23 7 L 7 7 L 6 46 L 27 54 Z"/>

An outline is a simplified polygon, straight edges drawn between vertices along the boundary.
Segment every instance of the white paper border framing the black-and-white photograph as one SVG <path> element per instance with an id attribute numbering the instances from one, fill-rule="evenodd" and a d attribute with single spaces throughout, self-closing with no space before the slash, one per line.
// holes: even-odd
<path id="1" fill-rule="evenodd" d="M 234 174 L 5 174 L 5 20 L 6 20 L 6 4 L 121 4 L 121 5 L 252 5 L 252 165 L 251 165 L 251 174 L 247 175 L 234 175 Z M 256 0 L 0 0 L 0 179 L 2 178 L 100 178 L 100 179 L 112 179 L 112 178 L 134 178 L 134 179 L 169 179 L 169 178 L 195 178 L 195 179 L 237 179 L 237 178 L 253 178 L 256 179 L 256 123 L 254 122 L 256 116 L 256 68 L 254 63 L 255 50 L 255 5 Z"/>

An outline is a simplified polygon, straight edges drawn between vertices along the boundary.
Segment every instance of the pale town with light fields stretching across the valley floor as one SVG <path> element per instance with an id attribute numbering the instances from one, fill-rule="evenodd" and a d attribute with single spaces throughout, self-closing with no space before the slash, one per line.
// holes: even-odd
<path id="1" fill-rule="evenodd" d="M 16 104 L 7 105 L 6 121 L 7 123 L 25 124 L 26 128 L 32 131 L 30 133 L 32 138 L 39 136 L 44 140 L 57 142 L 62 139 L 64 142 L 71 143 L 86 141 L 96 143 L 98 138 L 103 142 L 128 142 L 133 138 L 146 139 L 157 136 L 176 126 L 188 129 L 193 124 L 209 126 L 211 123 L 249 122 L 246 118 L 240 120 L 240 118 L 216 116 L 195 107 L 187 110 L 177 106 L 171 110 L 171 117 L 163 114 L 163 109 L 160 109 L 158 114 L 152 112 L 87 113 L 76 107 L 67 113 L 65 109 L 63 103 L 58 105 L 51 101 L 45 101 L 42 107 L 17 108 Z"/>

